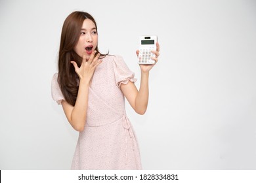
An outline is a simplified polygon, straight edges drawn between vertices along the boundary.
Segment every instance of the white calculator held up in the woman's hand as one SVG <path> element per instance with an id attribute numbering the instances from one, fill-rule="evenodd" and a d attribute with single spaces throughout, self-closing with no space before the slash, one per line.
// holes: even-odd
<path id="1" fill-rule="evenodd" d="M 140 36 L 140 53 L 139 53 L 139 64 L 154 64 L 154 59 L 151 57 L 155 57 L 151 51 L 156 51 L 156 42 L 158 42 L 158 36 L 156 35 L 147 35 Z"/>

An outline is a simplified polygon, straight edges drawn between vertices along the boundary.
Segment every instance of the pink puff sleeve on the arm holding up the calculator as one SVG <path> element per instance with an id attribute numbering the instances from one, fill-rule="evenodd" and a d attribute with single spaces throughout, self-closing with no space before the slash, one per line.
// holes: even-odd
<path id="1" fill-rule="evenodd" d="M 127 67 L 121 56 L 114 56 L 114 75 L 118 88 L 120 88 L 121 84 L 127 84 L 129 81 L 137 81 L 137 78 L 134 77 L 135 73 Z"/>

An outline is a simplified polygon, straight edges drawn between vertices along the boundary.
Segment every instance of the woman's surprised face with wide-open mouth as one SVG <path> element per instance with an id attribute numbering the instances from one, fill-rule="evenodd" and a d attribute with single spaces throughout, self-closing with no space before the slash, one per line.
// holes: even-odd
<path id="1" fill-rule="evenodd" d="M 75 52 L 83 58 L 83 53 L 86 54 L 88 60 L 98 44 L 98 33 L 96 26 L 90 19 L 85 19 L 80 31 L 79 40 L 74 48 Z"/>

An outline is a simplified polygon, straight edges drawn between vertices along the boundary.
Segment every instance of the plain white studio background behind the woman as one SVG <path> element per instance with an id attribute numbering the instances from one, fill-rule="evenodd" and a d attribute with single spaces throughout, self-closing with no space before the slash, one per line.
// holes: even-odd
<path id="1" fill-rule="evenodd" d="M 95 17 L 101 52 L 123 56 L 137 78 L 139 36 L 158 35 L 148 110 L 127 105 L 143 169 L 256 169 L 252 0 L 1 0 L 0 169 L 70 169 L 78 133 L 51 79 L 74 10 Z"/>

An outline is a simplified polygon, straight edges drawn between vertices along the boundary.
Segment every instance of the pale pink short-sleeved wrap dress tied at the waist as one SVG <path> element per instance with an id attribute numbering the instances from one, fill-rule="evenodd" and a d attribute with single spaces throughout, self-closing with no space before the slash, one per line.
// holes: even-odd
<path id="1" fill-rule="evenodd" d="M 53 76 L 52 96 L 64 100 Z M 121 83 L 135 82 L 123 58 L 106 56 L 89 88 L 87 120 L 79 133 L 71 169 L 141 169 L 140 152 L 131 122 L 125 114 Z"/>

